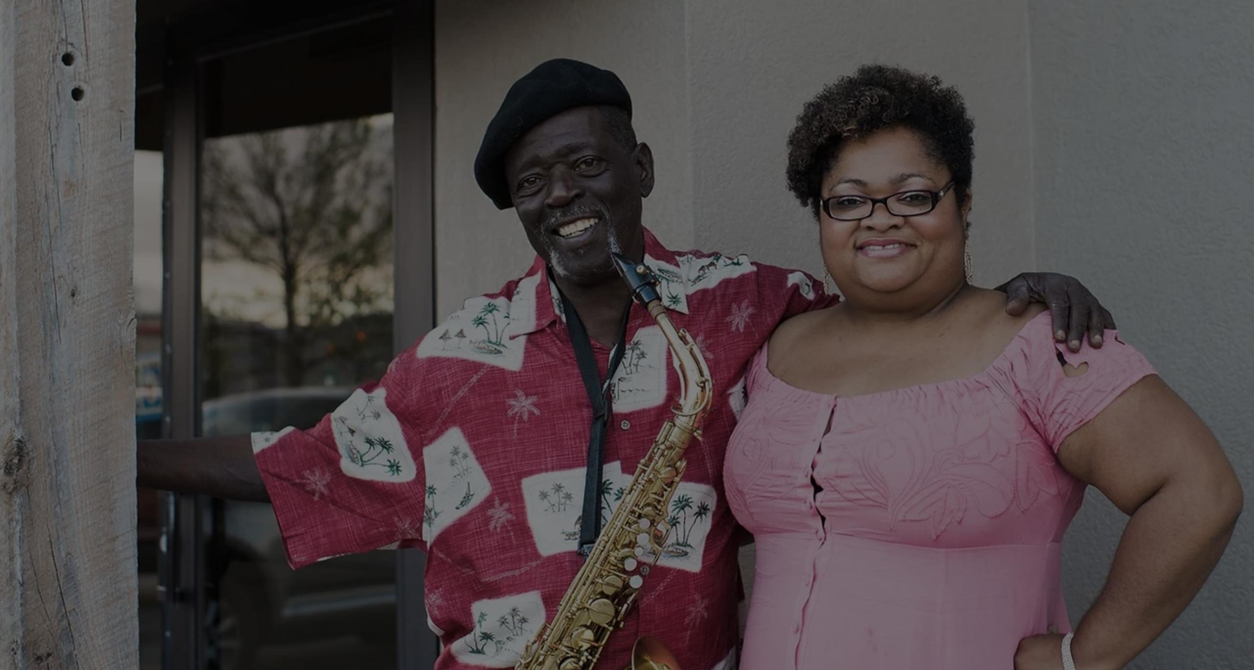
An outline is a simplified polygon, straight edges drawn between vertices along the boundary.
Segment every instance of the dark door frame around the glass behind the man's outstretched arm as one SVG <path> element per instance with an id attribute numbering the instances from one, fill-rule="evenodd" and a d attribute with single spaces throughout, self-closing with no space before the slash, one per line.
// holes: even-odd
<path id="1" fill-rule="evenodd" d="M 265 25 L 240 35 L 191 39 L 187 26 L 171 25 L 166 35 L 164 74 L 164 198 L 163 198 L 163 433 L 199 435 L 199 150 L 203 138 L 203 95 L 199 64 L 232 51 L 300 35 L 334 30 L 391 15 L 394 131 L 394 351 L 408 348 L 435 322 L 434 124 L 435 8 L 434 0 L 342 3 L 314 19 Z M 162 501 L 162 666 L 166 670 L 206 667 L 204 546 L 212 535 L 211 498 L 164 493 Z M 423 597 L 425 555 L 404 550 L 396 560 L 396 647 L 399 670 L 428 670 L 439 652 L 426 629 Z"/>

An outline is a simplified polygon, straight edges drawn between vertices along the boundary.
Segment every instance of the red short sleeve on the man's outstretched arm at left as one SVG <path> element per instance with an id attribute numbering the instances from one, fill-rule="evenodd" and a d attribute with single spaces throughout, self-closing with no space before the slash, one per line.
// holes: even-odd
<path id="1" fill-rule="evenodd" d="M 376 549 L 423 546 L 425 472 L 414 397 L 414 351 L 393 361 L 308 430 L 253 433 L 292 567 Z"/>

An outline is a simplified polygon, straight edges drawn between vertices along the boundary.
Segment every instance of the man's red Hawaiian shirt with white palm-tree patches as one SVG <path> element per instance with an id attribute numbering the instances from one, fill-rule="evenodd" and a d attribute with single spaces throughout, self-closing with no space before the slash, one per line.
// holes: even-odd
<path id="1" fill-rule="evenodd" d="M 673 531 L 638 606 L 602 654 L 628 662 L 640 635 L 686 669 L 735 665 L 736 523 L 722 462 L 745 403 L 745 367 L 780 321 L 826 304 L 803 272 L 745 257 L 667 250 L 646 263 L 678 327 L 705 353 L 715 402 L 671 505 Z M 342 554 L 428 552 L 438 669 L 513 667 L 583 559 L 576 554 L 592 408 L 544 263 L 464 308 L 308 431 L 253 436 L 293 567 Z M 604 442 L 603 515 L 671 416 L 676 373 L 648 313 L 632 307 Z M 609 351 L 593 342 L 601 374 Z"/>

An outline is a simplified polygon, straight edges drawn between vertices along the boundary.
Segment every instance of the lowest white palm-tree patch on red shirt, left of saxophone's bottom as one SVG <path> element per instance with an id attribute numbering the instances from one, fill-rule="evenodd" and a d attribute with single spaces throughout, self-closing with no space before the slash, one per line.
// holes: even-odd
<path id="1" fill-rule="evenodd" d="M 474 630 L 450 645 L 453 655 L 468 665 L 513 667 L 544 624 L 544 601 L 539 591 L 479 600 L 470 616 Z"/>

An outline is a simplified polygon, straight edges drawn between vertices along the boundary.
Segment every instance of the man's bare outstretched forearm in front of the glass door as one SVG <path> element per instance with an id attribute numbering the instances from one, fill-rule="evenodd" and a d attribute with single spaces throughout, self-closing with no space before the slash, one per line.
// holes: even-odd
<path id="1" fill-rule="evenodd" d="M 140 440 L 137 483 L 179 493 L 267 501 L 248 436 Z"/>

